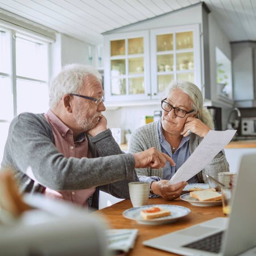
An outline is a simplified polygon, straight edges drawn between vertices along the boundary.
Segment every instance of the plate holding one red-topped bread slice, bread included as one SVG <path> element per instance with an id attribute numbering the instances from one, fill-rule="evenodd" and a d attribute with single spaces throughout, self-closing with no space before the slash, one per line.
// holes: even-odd
<path id="1" fill-rule="evenodd" d="M 150 204 L 130 208 L 123 212 L 123 216 L 140 224 L 157 225 L 172 223 L 189 213 L 190 209 L 179 205 Z"/>

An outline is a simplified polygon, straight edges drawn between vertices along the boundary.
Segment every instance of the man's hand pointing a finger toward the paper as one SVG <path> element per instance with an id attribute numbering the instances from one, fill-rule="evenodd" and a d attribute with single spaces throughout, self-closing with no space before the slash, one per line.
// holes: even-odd
<path id="1" fill-rule="evenodd" d="M 162 168 L 165 166 L 166 161 L 169 161 L 172 166 L 175 166 L 172 158 L 156 148 L 150 148 L 143 152 L 133 154 L 135 160 L 135 168 Z"/>

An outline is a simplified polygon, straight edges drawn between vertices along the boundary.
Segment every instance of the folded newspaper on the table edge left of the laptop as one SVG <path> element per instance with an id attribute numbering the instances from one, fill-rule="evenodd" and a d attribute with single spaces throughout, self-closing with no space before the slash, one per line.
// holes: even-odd
<path id="1" fill-rule="evenodd" d="M 106 232 L 109 250 L 128 252 L 133 248 L 138 229 L 109 229 Z"/>

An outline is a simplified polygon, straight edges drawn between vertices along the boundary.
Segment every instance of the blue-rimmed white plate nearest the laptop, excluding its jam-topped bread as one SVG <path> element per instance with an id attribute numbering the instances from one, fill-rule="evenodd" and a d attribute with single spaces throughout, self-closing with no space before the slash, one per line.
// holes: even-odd
<path id="1" fill-rule="evenodd" d="M 171 212 L 170 216 L 156 218 L 152 220 L 144 220 L 140 216 L 140 212 L 142 210 L 146 210 L 151 207 L 160 207 L 165 210 L 168 210 Z M 148 225 L 157 225 L 157 224 L 167 224 L 174 222 L 177 219 L 180 219 L 190 213 L 190 209 L 187 207 L 179 206 L 179 205 L 172 205 L 172 204 L 150 204 L 150 205 L 144 205 L 140 207 L 130 208 L 123 212 L 124 218 L 130 219 L 130 220 L 136 220 L 140 224 L 148 224 Z"/>

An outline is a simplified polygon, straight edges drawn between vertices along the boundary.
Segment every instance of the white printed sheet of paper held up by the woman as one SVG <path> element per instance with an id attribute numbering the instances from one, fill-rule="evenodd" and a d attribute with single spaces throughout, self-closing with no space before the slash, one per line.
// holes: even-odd
<path id="1" fill-rule="evenodd" d="M 195 176 L 232 140 L 235 134 L 236 130 L 209 131 L 167 184 L 172 185 L 180 181 L 187 181 Z"/>

